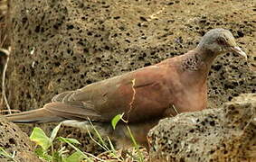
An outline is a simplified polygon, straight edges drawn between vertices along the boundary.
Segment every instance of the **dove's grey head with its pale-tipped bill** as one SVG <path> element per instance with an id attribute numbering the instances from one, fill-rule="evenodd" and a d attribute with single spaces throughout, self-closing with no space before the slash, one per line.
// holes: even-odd
<path id="1" fill-rule="evenodd" d="M 227 52 L 234 52 L 247 58 L 247 55 L 236 44 L 231 31 L 224 29 L 213 29 L 206 32 L 197 48 L 210 51 L 216 56 Z"/>

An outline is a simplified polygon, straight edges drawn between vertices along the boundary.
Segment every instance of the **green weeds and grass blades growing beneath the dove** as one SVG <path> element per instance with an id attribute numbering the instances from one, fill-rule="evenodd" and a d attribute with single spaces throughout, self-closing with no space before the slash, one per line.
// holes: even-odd
<path id="1" fill-rule="evenodd" d="M 119 114 L 115 116 L 112 121 L 112 127 L 115 130 L 118 122 L 120 120 L 125 121 L 122 117 L 124 114 Z M 90 119 L 89 119 L 90 121 Z M 127 122 L 127 121 L 125 121 Z M 35 127 L 33 129 L 33 132 L 30 136 L 30 139 L 36 143 L 36 149 L 35 153 L 38 157 L 48 161 L 48 162 L 80 162 L 82 160 L 86 160 L 88 162 L 93 162 L 93 161 L 100 161 L 104 162 L 106 160 L 101 159 L 100 157 L 95 157 L 90 153 L 87 152 L 82 152 L 79 148 L 77 148 L 75 145 L 79 145 L 80 142 L 77 139 L 71 139 L 71 138 L 63 138 L 63 137 L 56 137 L 58 130 L 60 130 L 62 123 L 57 125 L 53 130 L 51 137 L 48 137 L 44 131 L 38 127 Z M 90 125 L 92 126 L 93 130 L 95 131 L 95 134 L 98 138 L 98 140 L 93 139 L 90 131 L 88 131 L 90 135 L 90 139 L 92 139 L 96 144 L 100 146 L 100 148 L 103 148 L 105 150 L 104 154 L 109 154 L 109 157 L 114 157 L 117 159 L 117 161 L 124 161 L 122 157 L 118 155 L 118 151 L 114 148 L 111 140 L 108 138 L 108 141 L 106 142 L 101 136 L 100 132 L 96 130 L 92 122 L 90 121 Z M 141 151 L 138 148 L 137 142 L 134 139 L 131 130 L 128 128 L 128 133 L 131 137 L 131 140 L 138 152 L 139 157 L 137 158 L 138 161 L 143 162 L 144 157 L 142 156 Z M 61 142 L 61 147 L 60 148 L 53 148 L 53 144 L 58 141 Z M 62 146 L 63 143 L 68 144 L 75 152 L 71 153 L 70 150 L 68 150 L 66 147 Z M 1 151 L 1 149 L 0 149 Z M 1 153 L 1 152 L 0 152 Z M 5 152 L 6 153 L 6 152 Z M 7 156 L 8 154 L 6 154 Z M 132 155 L 130 155 L 132 156 Z M 11 155 L 8 155 L 7 157 L 14 157 Z M 133 157 L 133 156 L 132 156 Z"/>

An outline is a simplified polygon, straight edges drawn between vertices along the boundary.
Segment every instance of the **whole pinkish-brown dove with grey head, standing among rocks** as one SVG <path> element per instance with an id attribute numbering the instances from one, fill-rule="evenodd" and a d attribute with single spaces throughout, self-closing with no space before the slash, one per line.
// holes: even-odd
<path id="1" fill-rule="evenodd" d="M 130 143 L 128 125 L 137 143 L 147 147 L 147 132 L 160 119 L 206 108 L 208 73 L 214 58 L 227 52 L 247 58 L 231 31 L 213 29 L 183 55 L 57 94 L 43 108 L 6 118 L 17 123 L 63 121 L 81 129 L 90 120 L 121 147 Z M 110 122 L 118 114 L 126 122 L 113 130 Z"/>

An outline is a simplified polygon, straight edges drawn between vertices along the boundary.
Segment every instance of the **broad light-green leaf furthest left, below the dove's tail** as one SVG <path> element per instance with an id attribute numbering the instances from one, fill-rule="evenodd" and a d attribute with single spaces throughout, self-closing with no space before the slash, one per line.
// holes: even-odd
<path id="1" fill-rule="evenodd" d="M 44 150 L 50 148 L 52 141 L 46 136 L 41 128 L 35 127 L 29 137 L 37 145 L 41 146 Z"/>

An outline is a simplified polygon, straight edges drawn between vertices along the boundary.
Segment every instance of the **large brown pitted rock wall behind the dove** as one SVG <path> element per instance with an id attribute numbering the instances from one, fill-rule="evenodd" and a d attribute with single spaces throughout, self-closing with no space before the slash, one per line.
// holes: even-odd
<path id="1" fill-rule="evenodd" d="M 216 58 L 208 107 L 256 92 L 255 0 L 10 2 L 6 95 L 13 109 L 40 108 L 54 94 L 181 55 L 213 28 L 232 31 L 249 58 Z"/>

